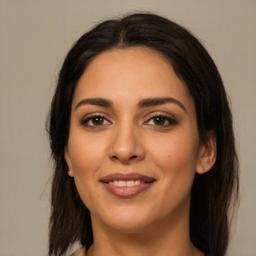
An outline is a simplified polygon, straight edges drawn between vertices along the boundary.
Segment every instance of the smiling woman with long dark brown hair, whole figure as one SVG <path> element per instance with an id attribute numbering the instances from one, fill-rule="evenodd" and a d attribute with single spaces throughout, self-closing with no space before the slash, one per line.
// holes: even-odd
<path id="1" fill-rule="evenodd" d="M 49 255 L 224 255 L 238 193 L 232 117 L 201 43 L 155 14 L 68 52 L 51 104 Z"/>

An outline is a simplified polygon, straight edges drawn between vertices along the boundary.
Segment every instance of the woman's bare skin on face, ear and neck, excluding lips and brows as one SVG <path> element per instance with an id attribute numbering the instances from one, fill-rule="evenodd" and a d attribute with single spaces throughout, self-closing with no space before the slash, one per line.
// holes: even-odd
<path id="1" fill-rule="evenodd" d="M 152 97 L 182 105 L 138 106 Z M 77 106 L 86 98 L 111 100 L 112 106 Z M 89 119 L 93 115 L 103 118 L 99 125 Z M 154 115 L 171 122 L 164 117 L 158 124 Z M 213 133 L 200 142 L 193 98 L 159 53 L 133 47 L 96 56 L 76 86 L 65 148 L 68 175 L 91 213 L 94 243 L 86 255 L 203 255 L 189 238 L 190 189 L 195 172 L 210 169 L 215 154 Z M 155 181 L 121 198 L 100 182 L 114 172 Z"/>

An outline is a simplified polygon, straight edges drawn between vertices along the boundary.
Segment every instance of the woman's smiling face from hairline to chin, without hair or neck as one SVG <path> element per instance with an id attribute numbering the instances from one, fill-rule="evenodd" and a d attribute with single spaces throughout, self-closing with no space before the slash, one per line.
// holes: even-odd
<path id="1" fill-rule="evenodd" d="M 193 99 L 160 54 L 113 49 L 86 67 L 65 159 L 93 225 L 132 232 L 188 221 L 199 152 Z"/>

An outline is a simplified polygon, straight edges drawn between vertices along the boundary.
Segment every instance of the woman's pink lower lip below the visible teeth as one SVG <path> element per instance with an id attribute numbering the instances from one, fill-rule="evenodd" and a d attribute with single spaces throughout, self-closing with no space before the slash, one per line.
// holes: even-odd
<path id="1" fill-rule="evenodd" d="M 141 193 L 149 186 L 151 186 L 153 182 L 146 182 L 135 186 L 114 186 L 105 182 L 102 182 L 102 184 L 111 194 L 118 197 L 129 198 L 137 195 L 138 193 Z"/>

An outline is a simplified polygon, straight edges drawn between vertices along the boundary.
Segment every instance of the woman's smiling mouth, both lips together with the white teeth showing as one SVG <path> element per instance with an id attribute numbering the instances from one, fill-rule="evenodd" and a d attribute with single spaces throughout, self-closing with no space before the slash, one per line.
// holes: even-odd
<path id="1" fill-rule="evenodd" d="M 113 173 L 103 177 L 102 184 L 108 192 L 129 198 L 149 188 L 155 181 L 154 178 L 139 173 Z"/>

